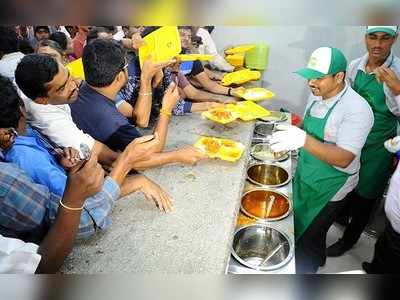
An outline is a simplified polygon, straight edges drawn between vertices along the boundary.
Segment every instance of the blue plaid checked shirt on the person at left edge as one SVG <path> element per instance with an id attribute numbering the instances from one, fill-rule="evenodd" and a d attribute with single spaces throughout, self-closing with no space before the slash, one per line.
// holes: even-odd
<path id="1" fill-rule="evenodd" d="M 111 224 L 110 213 L 120 195 L 120 188 L 111 177 L 104 180 L 102 190 L 86 199 L 81 213 L 77 238 L 92 236 L 97 229 Z M 0 233 L 31 240 L 42 236 L 43 224 L 55 222 L 61 197 L 37 184 L 20 168 L 0 162 Z"/>

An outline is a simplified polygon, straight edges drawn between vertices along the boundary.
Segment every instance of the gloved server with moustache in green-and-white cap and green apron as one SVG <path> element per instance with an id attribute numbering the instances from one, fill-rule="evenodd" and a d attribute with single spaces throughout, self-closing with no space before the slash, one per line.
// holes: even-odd
<path id="1" fill-rule="evenodd" d="M 307 68 L 312 95 L 304 130 L 278 125 L 273 151 L 299 149 L 293 180 L 296 271 L 315 273 L 325 264 L 326 234 L 358 181 L 360 153 L 373 125 L 368 103 L 345 82 L 347 61 L 336 48 L 321 47 Z"/>

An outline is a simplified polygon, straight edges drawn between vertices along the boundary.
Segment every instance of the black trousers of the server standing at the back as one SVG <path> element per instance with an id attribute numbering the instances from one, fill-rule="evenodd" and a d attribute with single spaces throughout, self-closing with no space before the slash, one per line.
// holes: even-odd
<path id="1" fill-rule="evenodd" d="M 363 198 L 353 191 L 346 196 L 344 201 L 345 205 L 338 218 L 350 218 L 350 223 L 346 226 L 341 238 L 350 247 L 358 242 L 371 218 L 377 199 Z"/>

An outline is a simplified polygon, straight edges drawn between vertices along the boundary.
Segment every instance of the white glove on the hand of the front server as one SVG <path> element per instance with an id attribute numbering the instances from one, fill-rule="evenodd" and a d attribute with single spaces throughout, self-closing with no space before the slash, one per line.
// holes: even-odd
<path id="1" fill-rule="evenodd" d="M 296 150 L 304 146 L 306 142 L 306 132 L 293 125 L 277 125 L 276 131 L 272 134 L 269 141 L 271 150 L 274 152 Z"/>

